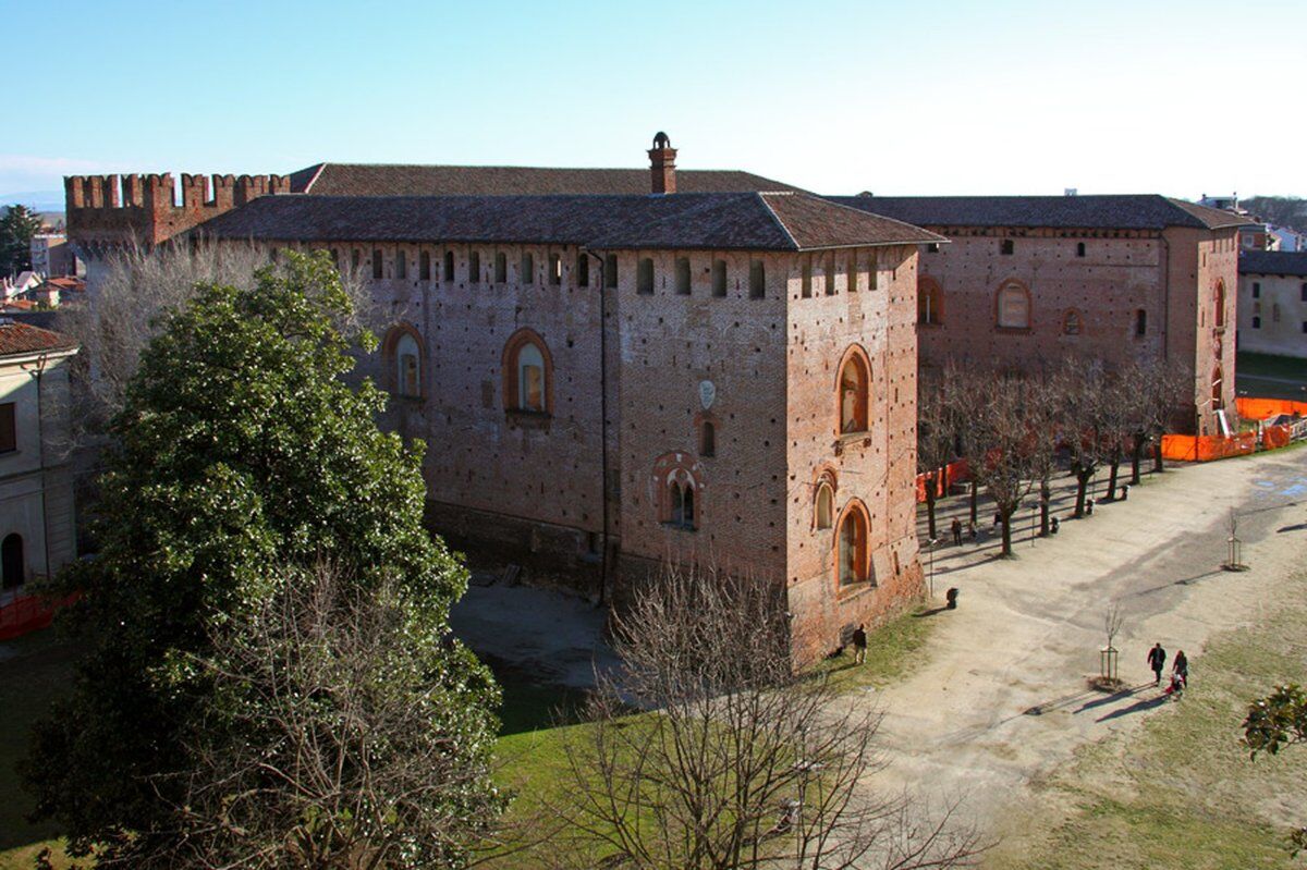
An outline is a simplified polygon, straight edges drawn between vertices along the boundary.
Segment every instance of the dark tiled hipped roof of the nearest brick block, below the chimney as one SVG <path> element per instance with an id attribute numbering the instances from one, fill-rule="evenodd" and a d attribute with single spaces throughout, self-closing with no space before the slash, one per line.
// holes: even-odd
<path id="1" fill-rule="evenodd" d="M 196 229 L 280 242 L 481 242 L 800 251 L 944 239 L 806 193 L 263 196 Z"/>

